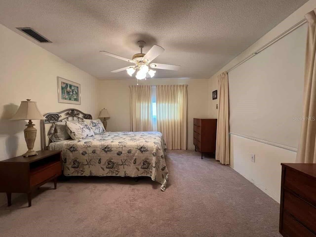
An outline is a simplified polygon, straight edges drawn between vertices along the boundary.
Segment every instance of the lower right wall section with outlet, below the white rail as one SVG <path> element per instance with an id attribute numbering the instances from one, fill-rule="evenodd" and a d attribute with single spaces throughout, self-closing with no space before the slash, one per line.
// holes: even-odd
<path id="1" fill-rule="evenodd" d="M 251 154 L 255 161 L 251 162 Z M 280 201 L 281 163 L 295 162 L 296 152 L 230 135 L 231 167 L 263 192 Z"/>

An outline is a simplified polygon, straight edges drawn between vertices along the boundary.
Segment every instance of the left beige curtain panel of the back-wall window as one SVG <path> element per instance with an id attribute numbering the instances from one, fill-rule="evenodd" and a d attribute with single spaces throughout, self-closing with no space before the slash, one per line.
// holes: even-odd
<path id="1" fill-rule="evenodd" d="M 152 89 L 150 85 L 130 85 L 130 129 L 152 131 Z"/>

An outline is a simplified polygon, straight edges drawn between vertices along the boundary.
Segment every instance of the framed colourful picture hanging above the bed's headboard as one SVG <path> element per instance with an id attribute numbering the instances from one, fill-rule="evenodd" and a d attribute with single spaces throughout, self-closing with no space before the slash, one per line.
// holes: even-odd
<path id="1" fill-rule="evenodd" d="M 57 77 L 57 86 L 59 103 L 81 104 L 81 90 L 79 83 Z"/>

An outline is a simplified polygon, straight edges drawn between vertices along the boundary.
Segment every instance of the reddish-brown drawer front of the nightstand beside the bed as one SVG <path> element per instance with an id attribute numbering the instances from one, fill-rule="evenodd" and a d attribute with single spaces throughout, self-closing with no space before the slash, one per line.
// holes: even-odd
<path id="1" fill-rule="evenodd" d="M 30 170 L 30 175 L 31 186 L 38 185 L 56 175 L 61 175 L 61 162 L 53 161 L 40 167 L 34 168 L 33 170 Z"/>

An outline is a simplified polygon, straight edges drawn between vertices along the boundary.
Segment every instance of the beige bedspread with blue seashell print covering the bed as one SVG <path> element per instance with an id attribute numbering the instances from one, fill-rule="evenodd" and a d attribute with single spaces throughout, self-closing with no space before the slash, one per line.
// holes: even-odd
<path id="1" fill-rule="evenodd" d="M 62 150 L 66 176 L 149 176 L 162 191 L 166 188 L 166 148 L 160 132 L 105 132 L 53 142 L 49 150 Z"/>

